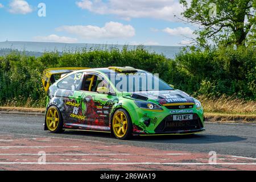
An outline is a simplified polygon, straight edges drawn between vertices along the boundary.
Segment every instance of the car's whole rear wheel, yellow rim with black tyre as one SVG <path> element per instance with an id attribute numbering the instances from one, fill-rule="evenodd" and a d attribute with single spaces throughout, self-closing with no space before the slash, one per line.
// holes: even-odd
<path id="1" fill-rule="evenodd" d="M 51 133 L 62 133 L 63 119 L 60 110 L 56 106 L 48 108 L 46 113 L 46 126 Z"/>

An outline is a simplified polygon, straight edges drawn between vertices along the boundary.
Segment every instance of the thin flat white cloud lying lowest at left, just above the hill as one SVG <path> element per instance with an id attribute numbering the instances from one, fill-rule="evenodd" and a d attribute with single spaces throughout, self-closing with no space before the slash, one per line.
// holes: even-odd
<path id="1" fill-rule="evenodd" d="M 60 42 L 60 43 L 76 43 L 76 38 L 68 38 L 66 36 L 57 36 L 57 35 L 49 35 L 49 36 L 36 36 L 34 37 L 35 41 L 38 42 Z"/>

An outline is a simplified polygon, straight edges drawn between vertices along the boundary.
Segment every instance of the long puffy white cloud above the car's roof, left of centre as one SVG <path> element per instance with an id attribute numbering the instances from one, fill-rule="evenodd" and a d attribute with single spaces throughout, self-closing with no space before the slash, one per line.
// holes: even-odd
<path id="1" fill-rule="evenodd" d="M 131 25 L 124 25 L 118 22 L 105 23 L 104 27 L 97 26 L 63 26 L 56 28 L 57 31 L 66 31 L 84 39 L 101 38 L 131 38 L 135 35 L 135 29 Z"/>

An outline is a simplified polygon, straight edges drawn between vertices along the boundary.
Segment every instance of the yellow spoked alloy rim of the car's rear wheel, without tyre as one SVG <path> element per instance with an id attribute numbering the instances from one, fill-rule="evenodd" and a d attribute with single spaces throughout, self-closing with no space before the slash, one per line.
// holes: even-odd
<path id="1" fill-rule="evenodd" d="M 51 107 L 46 114 L 46 125 L 50 131 L 55 131 L 59 125 L 60 117 L 57 109 Z"/>

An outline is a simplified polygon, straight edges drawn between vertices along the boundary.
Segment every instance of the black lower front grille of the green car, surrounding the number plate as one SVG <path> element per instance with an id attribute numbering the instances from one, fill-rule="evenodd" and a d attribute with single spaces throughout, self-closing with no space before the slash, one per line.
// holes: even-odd
<path id="1" fill-rule="evenodd" d="M 199 130 L 203 128 L 202 122 L 197 114 L 193 114 L 191 121 L 173 121 L 173 115 L 168 115 L 156 127 L 155 132 Z"/>

